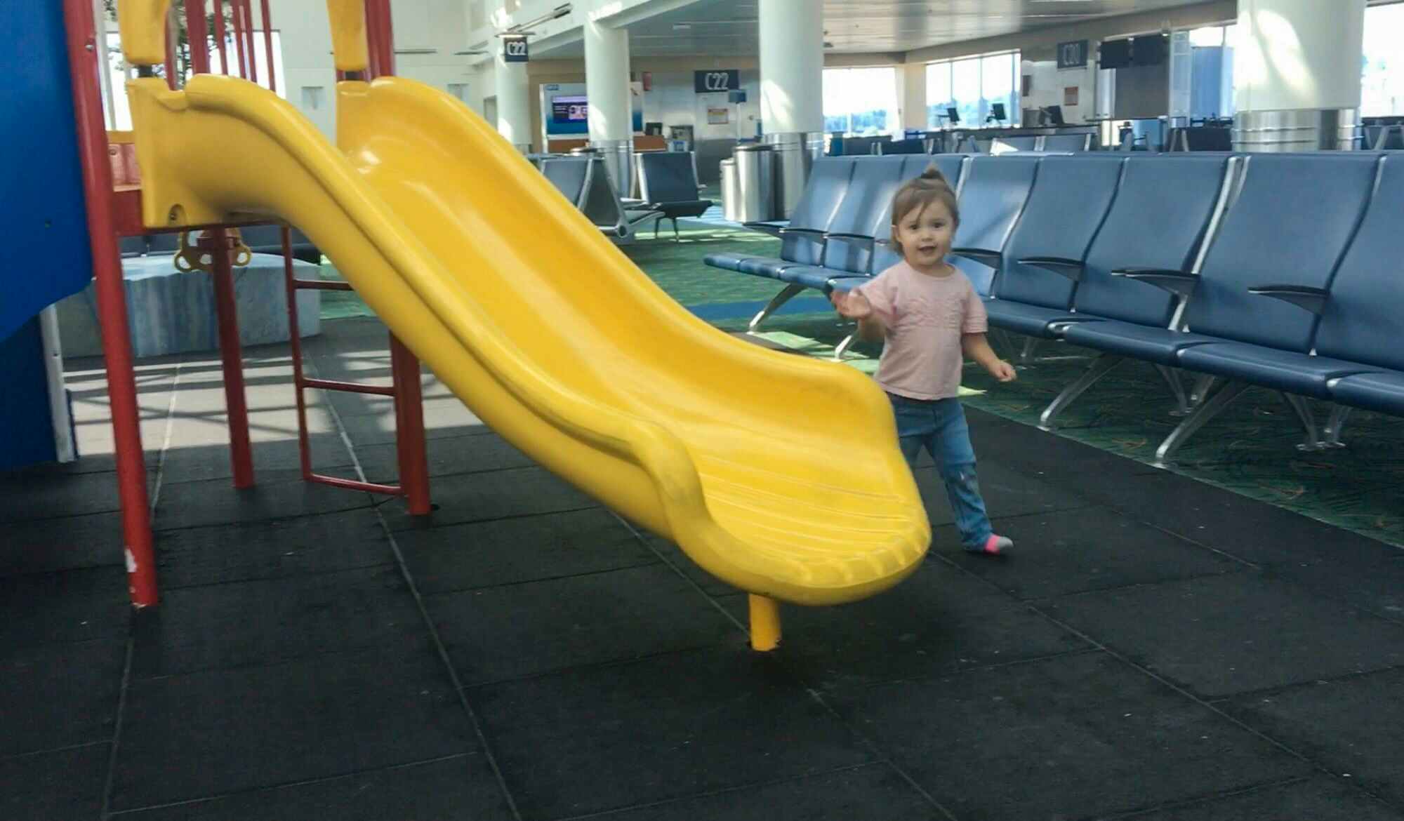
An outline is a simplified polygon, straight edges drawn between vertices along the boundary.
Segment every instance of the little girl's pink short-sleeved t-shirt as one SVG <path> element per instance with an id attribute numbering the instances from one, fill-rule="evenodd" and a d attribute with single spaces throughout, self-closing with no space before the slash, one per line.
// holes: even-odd
<path id="1" fill-rule="evenodd" d="M 928 276 L 897 262 L 856 289 L 887 327 L 878 385 L 907 399 L 946 399 L 960 389 L 962 334 L 987 330 L 984 303 L 960 271 Z"/>

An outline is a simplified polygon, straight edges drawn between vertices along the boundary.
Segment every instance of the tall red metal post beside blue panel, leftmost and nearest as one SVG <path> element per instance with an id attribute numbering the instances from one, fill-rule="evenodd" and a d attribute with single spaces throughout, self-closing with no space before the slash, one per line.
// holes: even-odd
<path id="1" fill-rule="evenodd" d="M 88 0 L 63 0 L 67 29 L 69 73 L 73 83 L 73 115 L 77 121 L 79 159 L 87 206 L 93 274 L 97 278 L 98 319 L 107 361 L 107 392 L 117 441 L 117 481 L 122 505 L 122 542 L 132 605 L 154 605 L 156 553 L 152 549 L 152 509 L 146 495 L 146 463 L 142 452 L 132 338 L 126 324 L 126 291 L 112 223 L 112 166 L 107 156 L 107 125 L 98 94 L 97 34 Z"/>

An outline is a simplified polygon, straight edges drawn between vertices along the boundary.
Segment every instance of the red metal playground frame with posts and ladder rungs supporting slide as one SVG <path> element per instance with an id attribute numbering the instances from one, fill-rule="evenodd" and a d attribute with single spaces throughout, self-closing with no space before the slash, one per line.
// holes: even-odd
<path id="1" fill-rule="evenodd" d="M 226 59 L 223 0 L 212 0 L 215 10 L 213 41 L 220 66 L 227 74 L 232 67 L 240 77 L 257 83 L 254 52 L 253 0 L 230 0 L 234 66 Z M 194 73 L 209 73 L 209 44 L 206 39 L 206 0 L 184 0 L 190 34 L 190 65 Z M 371 52 L 371 77 L 395 73 L 395 45 L 390 27 L 390 0 L 365 0 L 366 41 Z M 260 0 L 263 13 L 263 46 L 265 66 L 272 73 L 272 25 L 268 0 Z M 159 233 L 142 226 L 140 187 L 114 185 L 112 164 L 108 159 L 110 139 L 102 118 L 102 98 L 98 72 L 100 62 L 93 4 L 90 0 L 63 0 L 67 28 L 69 69 L 73 81 L 73 114 L 77 124 L 79 157 L 83 164 L 83 189 L 88 219 L 88 240 L 93 248 L 93 275 L 97 281 L 97 307 L 101 323 L 102 352 L 107 362 L 107 387 L 112 408 L 112 431 L 117 442 L 117 477 L 122 508 L 122 545 L 126 556 L 128 587 L 132 605 L 146 608 L 159 601 L 156 556 L 152 536 L 150 500 L 146 494 L 146 463 L 142 449 L 136 379 L 132 366 L 132 338 L 128 327 L 126 292 L 122 283 L 122 262 L 118 253 L 119 236 Z M 171 38 L 166 45 L 166 79 L 177 87 L 176 56 Z M 340 79 L 340 77 L 338 77 Z M 277 91 L 277 79 L 267 77 L 268 88 Z M 212 260 L 215 282 L 215 310 L 219 323 L 219 351 L 225 378 L 225 404 L 229 417 L 230 462 L 233 484 L 247 488 L 254 484 L 253 452 L 249 443 L 249 411 L 244 403 L 243 358 L 239 345 L 239 319 L 234 309 L 234 283 L 230 264 L 233 239 L 226 229 L 239 225 L 222 223 L 198 226 L 202 229 L 197 247 Z M 185 229 L 191 230 L 191 229 Z M 302 369 L 302 340 L 298 335 L 298 300 L 300 289 L 350 291 L 345 282 L 298 279 L 292 267 L 291 229 L 282 226 L 284 276 L 288 295 L 289 348 L 293 365 L 293 390 L 298 401 L 298 446 L 302 479 L 333 487 L 404 497 L 411 515 L 430 512 L 428 459 L 425 455 L 424 407 L 420 383 L 420 361 L 393 334 L 390 335 L 389 387 L 309 379 Z M 306 389 L 345 390 L 375 396 L 389 396 L 395 401 L 396 449 L 399 484 L 355 481 L 323 476 L 312 469 L 307 436 Z"/>

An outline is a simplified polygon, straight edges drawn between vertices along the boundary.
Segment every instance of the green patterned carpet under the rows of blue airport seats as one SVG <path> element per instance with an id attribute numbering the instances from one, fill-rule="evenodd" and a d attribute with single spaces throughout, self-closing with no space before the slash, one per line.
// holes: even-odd
<path id="1" fill-rule="evenodd" d="M 702 257 L 740 251 L 774 255 L 779 241 L 726 226 L 685 223 L 682 241 L 671 237 L 625 246 L 664 291 L 726 331 L 741 331 L 778 283 L 708 268 Z M 651 237 L 651 232 L 647 234 Z M 324 278 L 337 278 L 329 265 Z M 329 299 L 331 298 L 331 299 Z M 848 324 L 816 292 L 796 298 L 790 312 L 771 317 L 764 340 L 813 356 L 831 358 Z M 323 292 L 323 319 L 369 312 L 354 295 Z M 847 363 L 876 369 L 879 348 L 858 345 Z M 1088 352 L 1043 344 L 1042 359 L 1019 368 L 1019 380 L 998 385 L 966 368 L 965 401 L 1024 424 L 1036 424 L 1043 407 L 1087 368 Z M 1012 351 L 1001 351 L 1011 356 Z M 1126 362 L 1063 413 L 1056 435 L 1150 465 L 1161 439 L 1178 424 L 1170 415 L 1170 389 L 1148 365 Z M 1316 407 L 1324 421 L 1328 407 Z M 1272 392 L 1251 390 L 1175 456 L 1171 470 L 1258 498 L 1331 525 L 1404 546 L 1404 420 L 1355 413 L 1345 427 L 1346 448 L 1300 452 L 1302 428 Z"/>

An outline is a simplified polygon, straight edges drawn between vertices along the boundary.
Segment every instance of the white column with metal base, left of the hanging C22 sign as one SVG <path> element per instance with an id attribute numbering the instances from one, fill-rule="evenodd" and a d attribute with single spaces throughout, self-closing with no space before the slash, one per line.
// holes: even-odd
<path id="1" fill-rule="evenodd" d="M 633 191 L 629 32 L 602 25 L 587 15 L 584 38 L 590 146 L 604 156 L 619 196 L 629 196 Z"/>

